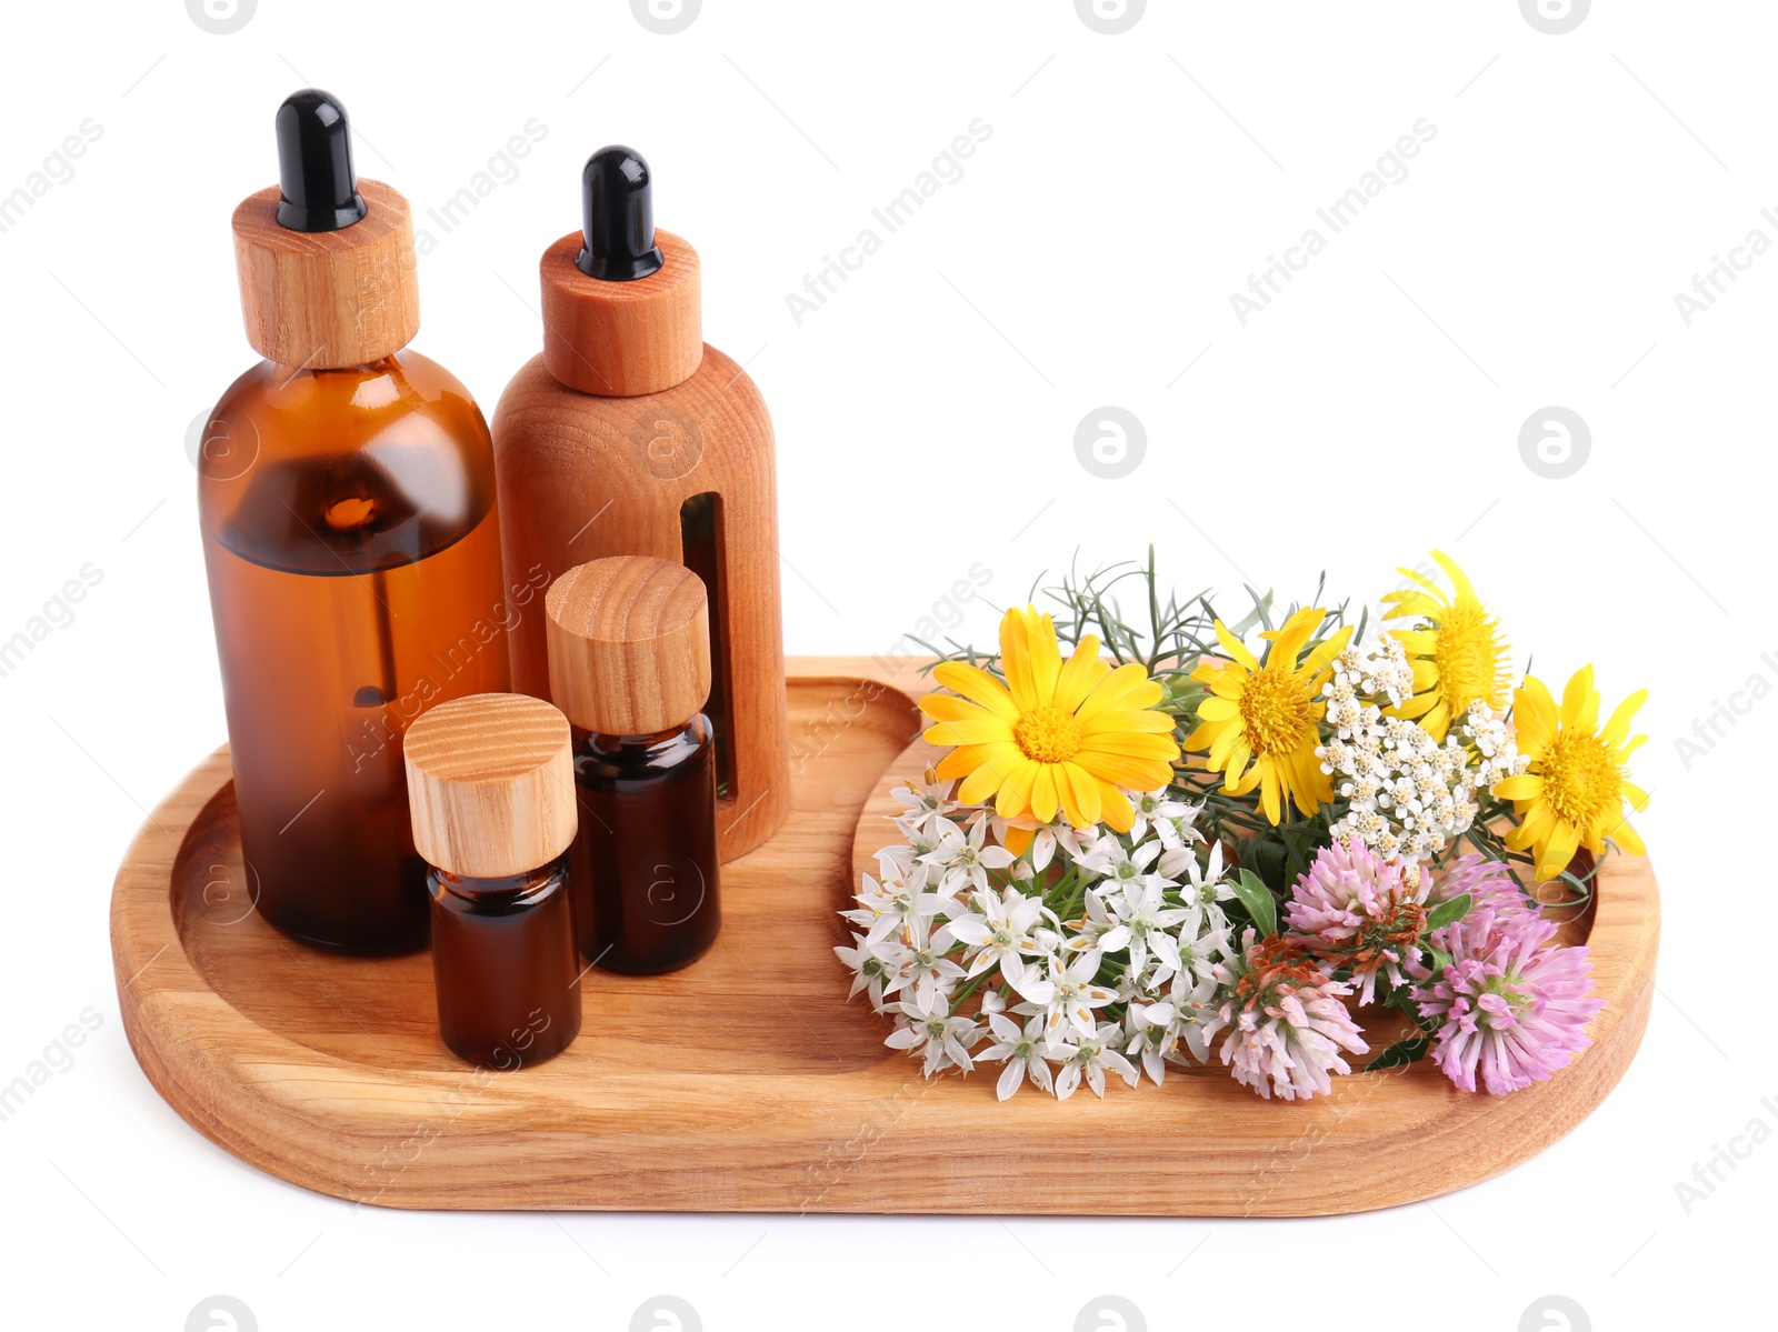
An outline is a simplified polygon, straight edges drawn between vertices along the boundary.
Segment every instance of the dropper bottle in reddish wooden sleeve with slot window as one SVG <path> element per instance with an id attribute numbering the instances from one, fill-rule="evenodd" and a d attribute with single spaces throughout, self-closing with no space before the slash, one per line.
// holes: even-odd
<path id="1" fill-rule="evenodd" d="M 743 370 L 704 343 L 697 251 L 654 229 L 642 156 L 605 148 L 583 228 L 542 256 L 544 350 L 494 413 L 509 569 L 647 555 L 709 596 L 722 859 L 789 811 L 772 420 Z M 551 697 L 537 617 L 512 631 L 514 688 Z"/>

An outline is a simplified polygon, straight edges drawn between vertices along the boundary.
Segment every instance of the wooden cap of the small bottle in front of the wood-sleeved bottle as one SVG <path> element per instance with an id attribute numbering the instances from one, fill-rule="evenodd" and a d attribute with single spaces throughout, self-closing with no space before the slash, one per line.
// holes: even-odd
<path id="1" fill-rule="evenodd" d="M 613 555 L 576 566 L 555 580 L 544 614 L 549 694 L 574 726 L 654 734 L 709 699 L 709 605 L 683 564 Z"/>

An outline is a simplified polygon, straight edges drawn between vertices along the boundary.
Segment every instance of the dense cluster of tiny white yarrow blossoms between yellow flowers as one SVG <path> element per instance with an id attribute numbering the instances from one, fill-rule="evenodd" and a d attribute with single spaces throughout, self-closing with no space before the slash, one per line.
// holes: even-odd
<path id="1" fill-rule="evenodd" d="M 1419 722 L 1383 717 L 1385 701 L 1399 704 L 1412 686 L 1414 669 L 1394 635 L 1348 647 L 1323 686 L 1334 736 L 1316 756 L 1350 802 L 1334 841 L 1360 838 L 1383 861 L 1399 861 L 1406 884 L 1419 887 L 1422 864 L 1474 823 L 1478 797 L 1524 772 L 1527 759 L 1485 702 L 1472 704 L 1442 745 Z"/>

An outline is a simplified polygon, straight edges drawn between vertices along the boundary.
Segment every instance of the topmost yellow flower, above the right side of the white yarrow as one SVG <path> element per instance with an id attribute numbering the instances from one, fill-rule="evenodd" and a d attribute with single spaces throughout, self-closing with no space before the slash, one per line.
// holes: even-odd
<path id="1" fill-rule="evenodd" d="M 1414 697 L 1387 715 L 1415 720 L 1433 740 L 1444 740 L 1472 704 L 1486 702 L 1495 713 L 1506 710 L 1513 662 L 1501 638 L 1501 622 L 1476 596 L 1469 576 L 1444 551 L 1435 550 L 1433 558 L 1451 580 L 1451 596 L 1417 569 L 1398 569 L 1417 585 L 1383 598 L 1396 603 L 1383 619 L 1421 622 L 1392 630 L 1414 663 Z"/>

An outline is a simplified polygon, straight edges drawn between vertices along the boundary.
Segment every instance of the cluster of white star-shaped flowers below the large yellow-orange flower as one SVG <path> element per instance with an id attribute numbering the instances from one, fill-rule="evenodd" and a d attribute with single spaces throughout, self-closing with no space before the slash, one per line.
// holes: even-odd
<path id="1" fill-rule="evenodd" d="M 859 903 L 841 912 L 852 994 L 894 1021 L 885 1044 L 930 1078 L 1001 1063 L 999 1099 L 1026 1081 L 1067 1099 L 1104 1095 L 1111 1072 L 1159 1083 L 1166 1063 L 1204 1062 L 1229 959 L 1221 847 L 1200 863 L 1202 806 L 1129 791 L 1131 832 L 1024 827 L 962 807 L 949 782 L 894 791 L 903 841 L 877 854 Z"/>

